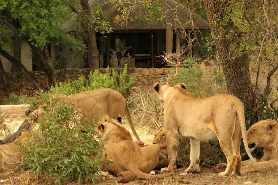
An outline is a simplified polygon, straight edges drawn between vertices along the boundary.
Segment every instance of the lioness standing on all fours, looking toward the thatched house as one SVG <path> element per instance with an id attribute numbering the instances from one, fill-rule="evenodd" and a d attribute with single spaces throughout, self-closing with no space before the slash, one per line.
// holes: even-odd
<path id="1" fill-rule="evenodd" d="M 184 84 L 154 84 L 159 101 L 164 105 L 164 121 L 169 165 L 166 172 L 174 171 L 178 149 L 178 135 L 190 138 L 190 166 L 185 170 L 200 171 L 200 141 L 219 140 L 227 158 L 227 176 L 234 172 L 241 175 L 241 135 L 248 156 L 252 157 L 246 139 L 244 106 L 229 94 L 206 98 L 194 98 L 185 90 Z"/>

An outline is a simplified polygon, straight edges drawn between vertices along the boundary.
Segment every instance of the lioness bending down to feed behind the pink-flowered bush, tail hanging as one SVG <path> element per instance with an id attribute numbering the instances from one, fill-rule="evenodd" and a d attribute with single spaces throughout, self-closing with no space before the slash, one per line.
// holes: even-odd
<path id="1" fill-rule="evenodd" d="M 119 114 L 126 115 L 134 136 L 140 141 L 131 119 L 128 104 L 120 92 L 109 88 L 101 88 L 73 94 L 68 97 L 59 94 L 55 94 L 52 97 L 59 98 L 62 103 L 72 103 L 77 109 L 82 109 L 85 117 L 95 119 L 98 124 L 106 120 L 116 119 Z M 29 113 L 30 111 L 25 112 Z M 37 109 L 34 113 L 40 117 L 43 112 Z"/>

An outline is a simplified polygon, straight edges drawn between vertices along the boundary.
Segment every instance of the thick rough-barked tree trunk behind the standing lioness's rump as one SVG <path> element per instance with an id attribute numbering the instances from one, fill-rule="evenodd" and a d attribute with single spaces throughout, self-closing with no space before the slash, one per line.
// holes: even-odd
<path id="1" fill-rule="evenodd" d="M 254 91 L 251 87 L 249 58 L 242 48 L 242 36 L 230 18 L 230 2 L 204 0 L 212 36 L 222 62 L 227 82 L 227 91 L 238 97 L 246 110 L 255 106 Z"/>

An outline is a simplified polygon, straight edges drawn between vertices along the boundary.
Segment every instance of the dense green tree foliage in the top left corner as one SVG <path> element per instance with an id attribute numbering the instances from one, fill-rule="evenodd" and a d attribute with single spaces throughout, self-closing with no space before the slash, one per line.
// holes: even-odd
<path id="1" fill-rule="evenodd" d="M 14 24 L 9 24 L 8 27 L 0 29 L 15 29 L 19 35 L 41 49 L 51 40 L 56 44 L 75 46 L 74 48 L 80 49 L 80 43 L 61 29 L 62 24 L 73 15 L 67 5 L 69 1 L 0 0 L 0 10 L 4 11 L 4 20 L 11 23 L 13 19 L 17 25 L 13 27 Z M 1 34 L 0 40 L 5 40 Z"/>

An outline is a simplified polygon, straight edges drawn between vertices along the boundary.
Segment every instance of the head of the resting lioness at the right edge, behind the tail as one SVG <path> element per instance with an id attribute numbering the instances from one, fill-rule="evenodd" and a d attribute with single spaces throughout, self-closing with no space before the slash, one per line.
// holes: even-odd
<path id="1" fill-rule="evenodd" d="M 272 119 L 262 120 L 252 125 L 246 132 L 250 150 L 271 145 L 276 137 L 275 130 L 277 130 L 277 121 Z"/>

